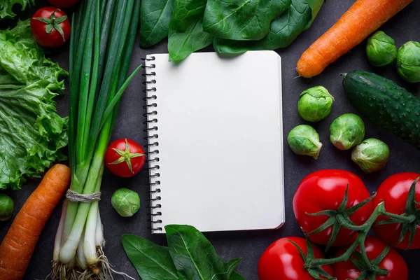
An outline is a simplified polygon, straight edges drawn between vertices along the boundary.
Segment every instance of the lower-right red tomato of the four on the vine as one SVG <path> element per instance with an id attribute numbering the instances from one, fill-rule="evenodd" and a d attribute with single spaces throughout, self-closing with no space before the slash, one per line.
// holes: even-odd
<path id="1" fill-rule="evenodd" d="M 363 279 L 407 280 L 407 263 L 405 263 L 405 260 L 397 251 L 395 251 L 393 248 L 389 248 L 388 253 L 385 251 L 386 255 L 380 256 L 381 253 L 386 250 L 386 248 L 387 244 L 385 244 L 383 241 L 374 237 L 367 237 L 365 239 L 365 250 L 367 258 L 373 263 L 373 269 L 372 267 L 369 268 L 369 265 L 365 266 L 365 262 L 361 260 L 360 248 L 358 248 L 356 250 L 356 252 L 358 252 L 357 255 L 353 254 L 352 257 L 346 262 L 337 262 L 332 265 L 334 268 L 334 276 L 337 278 L 337 280 L 358 279 L 358 276 L 360 276 L 361 273 L 364 273 L 365 277 L 363 277 Z M 345 251 L 345 249 L 340 248 L 335 256 L 339 257 L 345 253 Z M 379 259 L 377 259 L 378 257 Z M 375 261 L 379 263 L 377 264 Z M 374 278 L 370 278 L 372 277 L 372 274 L 374 274 L 374 270 L 380 272 L 381 269 L 388 270 L 388 274 L 377 274 L 374 276 Z"/>

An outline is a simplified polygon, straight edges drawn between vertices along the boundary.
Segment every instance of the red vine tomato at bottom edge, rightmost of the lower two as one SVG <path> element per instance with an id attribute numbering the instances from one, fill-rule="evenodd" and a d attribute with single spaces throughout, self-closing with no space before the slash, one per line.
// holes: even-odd
<path id="1" fill-rule="evenodd" d="M 365 240 L 366 255 L 369 260 L 377 258 L 382 251 L 386 248 L 387 244 L 383 241 L 374 238 L 367 237 Z M 336 256 L 342 255 L 346 250 L 339 249 Z M 358 249 L 360 252 L 360 249 Z M 388 254 L 378 265 L 380 268 L 387 269 L 389 274 L 377 275 L 374 279 L 376 280 L 407 280 L 408 279 L 408 267 L 402 256 L 397 253 L 393 248 L 389 249 Z M 360 275 L 360 270 L 353 264 L 351 260 L 346 262 L 337 262 L 333 265 L 334 276 L 337 280 L 346 279 L 357 279 Z M 366 277 L 366 279 L 370 279 Z"/>

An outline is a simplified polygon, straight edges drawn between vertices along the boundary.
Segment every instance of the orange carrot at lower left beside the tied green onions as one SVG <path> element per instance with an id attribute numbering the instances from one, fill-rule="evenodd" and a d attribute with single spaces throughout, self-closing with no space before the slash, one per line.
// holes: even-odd
<path id="1" fill-rule="evenodd" d="M 0 280 L 23 278 L 39 235 L 69 181 L 69 167 L 54 165 L 23 204 L 0 245 Z"/>

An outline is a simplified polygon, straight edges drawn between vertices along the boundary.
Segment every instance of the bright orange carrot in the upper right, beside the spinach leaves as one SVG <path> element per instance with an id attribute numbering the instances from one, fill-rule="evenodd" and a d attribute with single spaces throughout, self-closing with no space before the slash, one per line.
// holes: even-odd
<path id="1" fill-rule="evenodd" d="M 304 78 L 318 75 L 412 1 L 357 0 L 303 53 L 297 62 L 297 73 Z"/>

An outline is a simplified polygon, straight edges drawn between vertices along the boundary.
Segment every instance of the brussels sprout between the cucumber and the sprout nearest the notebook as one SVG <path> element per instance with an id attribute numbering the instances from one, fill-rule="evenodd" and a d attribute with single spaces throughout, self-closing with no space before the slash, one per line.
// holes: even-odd
<path id="1" fill-rule="evenodd" d="M 336 118 L 330 126 L 330 141 L 339 150 L 362 143 L 365 139 L 365 123 L 354 114 L 344 114 Z"/>

